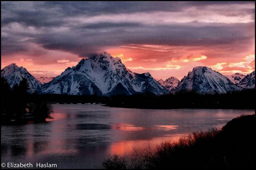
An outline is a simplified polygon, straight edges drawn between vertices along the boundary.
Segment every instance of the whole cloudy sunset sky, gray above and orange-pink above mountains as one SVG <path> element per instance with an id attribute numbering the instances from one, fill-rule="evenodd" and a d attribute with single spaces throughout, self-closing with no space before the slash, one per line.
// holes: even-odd
<path id="1" fill-rule="evenodd" d="M 1 69 L 58 76 L 108 52 L 133 72 L 181 80 L 195 66 L 255 70 L 255 2 L 3 2 Z"/>

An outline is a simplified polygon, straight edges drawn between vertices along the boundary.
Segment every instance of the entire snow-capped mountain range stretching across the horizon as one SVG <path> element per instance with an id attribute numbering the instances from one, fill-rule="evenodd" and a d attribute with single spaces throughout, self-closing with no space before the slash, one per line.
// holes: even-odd
<path id="1" fill-rule="evenodd" d="M 30 92 L 112 96 L 116 94 L 196 92 L 200 94 L 227 93 L 255 88 L 255 71 L 248 75 L 236 73 L 224 76 L 206 66 L 194 67 L 181 81 L 175 77 L 155 80 L 150 73 L 134 73 L 118 57 L 102 53 L 81 59 L 57 77 L 32 76 L 24 67 L 12 63 L 1 70 L 11 88 L 26 78 Z"/>

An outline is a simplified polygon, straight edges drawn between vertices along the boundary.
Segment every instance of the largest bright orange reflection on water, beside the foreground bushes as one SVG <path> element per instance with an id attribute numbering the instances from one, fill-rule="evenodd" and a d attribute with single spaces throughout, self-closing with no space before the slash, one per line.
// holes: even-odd
<path id="1" fill-rule="evenodd" d="M 124 140 L 121 142 L 112 143 L 109 147 L 109 154 L 125 155 L 131 154 L 134 150 L 143 151 L 150 147 L 155 150 L 162 142 L 175 142 L 188 134 L 166 135 L 164 137 L 153 138 L 149 140 Z"/>

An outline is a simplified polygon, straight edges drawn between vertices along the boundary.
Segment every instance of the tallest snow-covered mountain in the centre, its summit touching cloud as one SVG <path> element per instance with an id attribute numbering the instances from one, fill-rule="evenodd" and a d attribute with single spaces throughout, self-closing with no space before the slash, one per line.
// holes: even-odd
<path id="1" fill-rule="evenodd" d="M 76 66 L 68 67 L 60 76 L 45 83 L 42 93 L 95 94 L 111 96 L 115 94 L 167 93 L 150 73 L 133 73 L 118 57 L 109 53 L 82 59 Z"/>

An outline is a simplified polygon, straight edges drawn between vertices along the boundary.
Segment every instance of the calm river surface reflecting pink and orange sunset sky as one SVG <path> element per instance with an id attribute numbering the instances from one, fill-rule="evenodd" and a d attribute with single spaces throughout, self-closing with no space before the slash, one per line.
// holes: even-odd
<path id="1" fill-rule="evenodd" d="M 221 128 L 246 110 L 109 108 L 54 105 L 46 123 L 1 126 L 2 162 L 50 162 L 59 168 L 101 168 L 109 154 L 154 150 L 196 130 Z"/>

